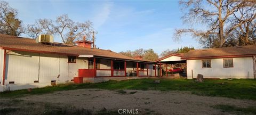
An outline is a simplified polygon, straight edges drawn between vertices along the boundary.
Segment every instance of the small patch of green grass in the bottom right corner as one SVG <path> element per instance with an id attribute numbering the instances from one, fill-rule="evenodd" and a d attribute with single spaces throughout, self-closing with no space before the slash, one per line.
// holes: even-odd
<path id="1" fill-rule="evenodd" d="M 213 108 L 220 109 L 223 112 L 230 112 L 236 114 L 256 114 L 256 106 L 250 106 L 248 108 L 239 108 L 236 106 L 219 104 L 213 106 Z"/>

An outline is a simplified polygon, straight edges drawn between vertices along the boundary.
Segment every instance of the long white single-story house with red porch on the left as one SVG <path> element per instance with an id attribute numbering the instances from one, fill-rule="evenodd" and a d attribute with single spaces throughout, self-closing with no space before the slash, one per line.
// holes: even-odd
<path id="1" fill-rule="evenodd" d="M 0 34 L 0 91 L 44 87 L 55 83 L 97 83 L 109 79 L 156 76 L 155 62 L 111 50 Z M 50 39 L 51 38 L 51 39 Z M 50 39 L 50 40 L 49 40 Z"/>

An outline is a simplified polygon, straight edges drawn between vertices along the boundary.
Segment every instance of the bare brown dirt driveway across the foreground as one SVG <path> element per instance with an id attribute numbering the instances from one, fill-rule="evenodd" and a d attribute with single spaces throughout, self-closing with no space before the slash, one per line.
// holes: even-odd
<path id="1" fill-rule="evenodd" d="M 139 113 L 151 114 L 227 114 L 212 106 L 225 104 L 245 108 L 255 106 L 256 103 L 251 100 L 198 96 L 189 92 L 109 91 L 102 89 L 61 91 L 18 99 L 34 103 L 49 102 L 55 105 L 72 105 L 92 111 L 106 108 L 117 113 L 118 109 L 139 109 Z"/>

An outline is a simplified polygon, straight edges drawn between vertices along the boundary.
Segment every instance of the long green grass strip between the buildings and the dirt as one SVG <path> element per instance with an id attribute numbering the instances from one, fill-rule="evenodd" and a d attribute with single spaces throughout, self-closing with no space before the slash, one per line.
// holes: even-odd
<path id="1" fill-rule="evenodd" d="M 160 80 L 159 84 L 154 84 L 154 80 Z M 25 90 L 2 92 L 1 97 L 19 97 L 31 94 L 53 93 L 55 91 L 67 91 L 84 88 L 98 88 L 109 90 L 157 90 L 157 91 L 190 91 L 193 94 L 206 96 L 222 96 L 229 98 L 245 98 L 256 100 L 256 80 L 255 79 L 205 79 L 204 83 L 196 83 L 190 79 L 131 79 L 124 81 L 106 81 L 103 83 L 86 84 L 59 84 L 43 88 L 32 89 L 31 92 Z"/>

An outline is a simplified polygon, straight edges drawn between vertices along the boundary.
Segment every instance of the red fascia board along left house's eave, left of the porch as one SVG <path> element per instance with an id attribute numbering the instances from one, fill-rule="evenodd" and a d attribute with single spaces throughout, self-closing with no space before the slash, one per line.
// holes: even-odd
<path id="1" fill-rule="evenodd" d="M 9 48 L 2 47 L 4 50 L 14 50 L 14 51 L 23 51 L 23 52 L 34 52 L 34 53 L 50 53 L 50 54 L 59 54 L 59 55 L 70 55 L 70 56 L 79 56 L 78 54 L 69 54 L 69 53 L 59 53 L 59 52 L 49 52 L 49 51 L 35 51 L 35 50 L 25 50 L 19 48 Z"/>

